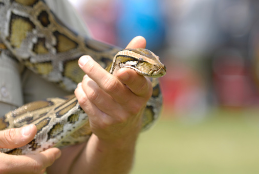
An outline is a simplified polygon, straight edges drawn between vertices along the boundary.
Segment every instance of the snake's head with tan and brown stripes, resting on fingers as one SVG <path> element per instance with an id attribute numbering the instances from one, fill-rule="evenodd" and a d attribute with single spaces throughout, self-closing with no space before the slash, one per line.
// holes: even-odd
<path id="1" fill-rule="evenodd" d="M 144 48 L 121 50 L 115 55 L 113 62 L 115 64 L 111 66 L 110 73 L 124 67 L 151 78 L 159 78 L 166 73 L 166 67 L 160 62 L 159 56 Z"/>

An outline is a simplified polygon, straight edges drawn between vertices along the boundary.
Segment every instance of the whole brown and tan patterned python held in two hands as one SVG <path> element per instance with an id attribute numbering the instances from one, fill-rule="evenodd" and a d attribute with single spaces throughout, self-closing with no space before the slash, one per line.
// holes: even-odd
<path id="1" fill-rule="evenodd" d="M 0 0 L 0 54 L 13 57 L 47 81 L 73 91 L 83 78 L 78 67 L 82 55 L 90 55 L 110 73 L 121 67 L 157 78 L 166 72 L 158 56 L 146 49 L 122 50 L 78 35 L 64 25 L 40 0 Z M 150 79 L 153 94 L 143 114 L 142 129 L 159 117 L 162 94 L 157 79 Z M 30 154 L 50 147 L 88 141 L 87 114 L 75 95 L 25 104 L 0 118 L 0 130 L 35 124 L 37 133 L 27 145 L 0 149 L 8 154 Z"/>

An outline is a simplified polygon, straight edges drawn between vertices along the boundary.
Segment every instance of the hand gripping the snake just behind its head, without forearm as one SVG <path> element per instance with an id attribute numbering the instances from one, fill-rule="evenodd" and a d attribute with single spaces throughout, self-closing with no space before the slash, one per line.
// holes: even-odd
<path id="1" fill-rule="evenodd" d="M 138 36 L 127 48 L 145 45 L 145 39 Z M 78 84 L 75 95 L 89 116 L 95 136 L 105 141 L 136 139 L 143 110 L 152 95 L 151 82 L 129 68 L 112 75 L 90 56 L 82 56 L 79 66 L 87 75 Z"/>

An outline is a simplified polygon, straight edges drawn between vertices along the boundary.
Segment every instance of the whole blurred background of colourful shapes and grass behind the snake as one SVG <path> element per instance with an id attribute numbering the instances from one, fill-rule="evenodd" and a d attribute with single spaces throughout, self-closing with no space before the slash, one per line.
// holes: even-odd
<path id="1" fill-rule="evenodd" d="M 70 0 L 97 40 L 142 35 L 161 57 L 164 108 L 138 173 L 259 173 L 259 2 Z"/>

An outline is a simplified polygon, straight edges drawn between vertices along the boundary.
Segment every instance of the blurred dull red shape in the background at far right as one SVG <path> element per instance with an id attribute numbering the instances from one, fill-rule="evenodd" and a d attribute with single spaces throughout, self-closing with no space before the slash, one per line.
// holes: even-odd
<path id="1" fill-rule="evenodd" d="M 253 93 L 245 61 L 239 54 L 227 52 L 213 62 L 213 83 L 219 105 L 245 107 Z"/>

